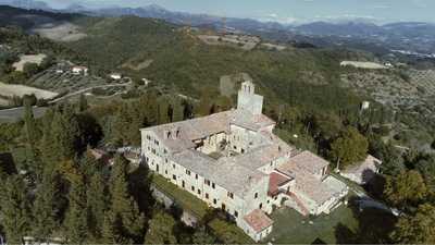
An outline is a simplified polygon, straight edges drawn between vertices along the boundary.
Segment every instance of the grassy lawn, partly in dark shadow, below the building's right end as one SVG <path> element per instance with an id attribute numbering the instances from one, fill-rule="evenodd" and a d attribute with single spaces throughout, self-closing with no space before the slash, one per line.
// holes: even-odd
<path id="1" fill-rule="evenodd" d="M 356 204 L 350 200 L 349 204 Z M 385 244 L 396 218 L 382 209 L 341 205 L 331 215 L 302 217 L 294 209 L 272 213 L 275 221 L 266 241 L 273 244 Z"/>

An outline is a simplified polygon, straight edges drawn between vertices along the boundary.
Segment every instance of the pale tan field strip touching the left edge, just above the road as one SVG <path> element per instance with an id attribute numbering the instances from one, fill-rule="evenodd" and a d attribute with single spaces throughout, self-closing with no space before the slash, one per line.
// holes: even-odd
<path id="1" fill-rule="evenodd" d="M 15 84 L 3 84 L 0 83 L 0 95 L 1 96 L 18 96 L 23 97 L 25 95 L 35 95 L 38 99 L 52 99 L 58 96 L 57 93 L 28 87 L 24 85 L 15 85 Z"/>

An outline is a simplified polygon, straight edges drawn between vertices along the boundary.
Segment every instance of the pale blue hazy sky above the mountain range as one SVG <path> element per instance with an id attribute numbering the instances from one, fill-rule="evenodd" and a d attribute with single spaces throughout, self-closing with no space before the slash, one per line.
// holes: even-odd
<path id="1" fill-rule="evenodd" d="M 361 19 L 374 23 L 421 21 L 435 23 L 435 0 L 45 0 L 55 8 L 72 3 L 87 7 L 145 7 L 172 11 L 250 17 L 281 23 Z"/>

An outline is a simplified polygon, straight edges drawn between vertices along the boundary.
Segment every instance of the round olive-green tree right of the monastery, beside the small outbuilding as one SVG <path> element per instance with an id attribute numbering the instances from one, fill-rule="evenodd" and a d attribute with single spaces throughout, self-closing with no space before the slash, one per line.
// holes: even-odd
<path id="1" fill-rule="evenodd" d="M 331 145 L 331 155 L 341 168 L 364 160 L 368 149 L 368 139 L 357 128 L 347 127 Z"/>

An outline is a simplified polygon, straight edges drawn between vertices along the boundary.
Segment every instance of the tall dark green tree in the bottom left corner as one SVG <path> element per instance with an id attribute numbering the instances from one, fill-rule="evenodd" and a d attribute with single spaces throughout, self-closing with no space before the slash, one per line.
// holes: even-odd
<path id="1" fill-rule="evenodd" d="M 30 211 L 25 183 L 18 175 L 10 176 L 1 187 L 0 217 L 9 244 L 24 244 L 30 229 Z"/>

